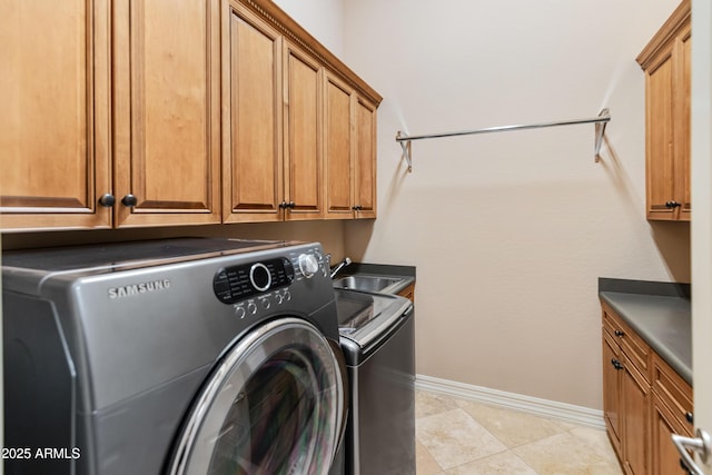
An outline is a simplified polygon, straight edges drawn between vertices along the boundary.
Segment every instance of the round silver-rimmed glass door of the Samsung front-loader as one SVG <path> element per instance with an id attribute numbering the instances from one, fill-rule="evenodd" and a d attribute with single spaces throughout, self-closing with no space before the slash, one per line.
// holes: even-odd
<path id="1" fill-rule="evenodd" d="M 240 339 L 192 407 L 171 474 L 327 474 L 344 431 L 343 357 L 309 323 Z"/>

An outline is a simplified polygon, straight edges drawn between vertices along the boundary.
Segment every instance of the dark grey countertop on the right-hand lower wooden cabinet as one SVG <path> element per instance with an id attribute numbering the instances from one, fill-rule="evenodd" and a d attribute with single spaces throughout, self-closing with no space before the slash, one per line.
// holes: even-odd
<path id="1" fill-rule="evenodd" d="M 692 385 L 692 313 L 688 284 L 600 278 L 599 296 Z"/>

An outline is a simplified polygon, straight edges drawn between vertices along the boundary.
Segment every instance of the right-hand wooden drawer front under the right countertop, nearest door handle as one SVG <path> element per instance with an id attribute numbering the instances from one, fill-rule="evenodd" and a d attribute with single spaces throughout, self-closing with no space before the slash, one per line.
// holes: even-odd
<path id="1" fill-rule="evenodd" d="M 694 428 L 692 387 L 656 353 L 653 353 L 652 368 L 653 390 L 685 427 L 688 435 L 692 436 Z"/>

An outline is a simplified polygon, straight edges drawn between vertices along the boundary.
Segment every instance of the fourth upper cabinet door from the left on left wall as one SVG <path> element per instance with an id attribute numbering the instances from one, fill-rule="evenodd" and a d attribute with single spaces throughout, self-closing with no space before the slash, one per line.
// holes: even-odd
<path id="1" fill-rule="evenodd" d="M 322 68 L 285 42 L 285 219 L 322 217 Z"/>

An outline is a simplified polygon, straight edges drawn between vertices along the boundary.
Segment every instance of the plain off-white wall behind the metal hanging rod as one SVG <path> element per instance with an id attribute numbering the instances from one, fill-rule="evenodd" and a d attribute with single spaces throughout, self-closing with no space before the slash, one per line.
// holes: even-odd
<path id="1" fill-rule="evenodd" d="M 345 60 L 384 96 L 378 219 L 355 260 L 417 266 L 417 373 L 601 408 L 597 278 L 690 279 L 689 225 L 644 217 L 635 57 L 678 0 L 346 0 Z M 594 127 L 413 142 L 594 117 Z"/>

